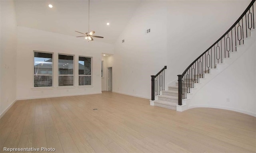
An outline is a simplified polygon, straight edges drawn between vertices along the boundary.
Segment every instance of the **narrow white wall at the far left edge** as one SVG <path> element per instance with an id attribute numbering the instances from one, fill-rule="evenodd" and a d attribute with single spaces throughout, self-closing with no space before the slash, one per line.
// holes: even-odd
<path id="1" fill-rule="evenodd" d="M 0 116 L 16 100 L 17 23 L 12 0 L 0 1 Z"/>

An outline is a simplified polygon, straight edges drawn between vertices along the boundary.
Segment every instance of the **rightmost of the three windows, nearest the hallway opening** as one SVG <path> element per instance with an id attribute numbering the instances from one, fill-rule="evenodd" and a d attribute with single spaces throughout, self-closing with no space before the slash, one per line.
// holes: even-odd
<path id="1" fill-rule="evenodd" d="M 92 58 L 79 56 L 79 86 L 92 85 Z"/>

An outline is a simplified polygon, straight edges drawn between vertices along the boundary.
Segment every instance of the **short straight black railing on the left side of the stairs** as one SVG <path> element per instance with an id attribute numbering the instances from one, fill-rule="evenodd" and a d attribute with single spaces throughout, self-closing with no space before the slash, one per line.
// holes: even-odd
<path id="1" fill-rule="evenodd" d="M 151 75 L 151 100 L 155 100 L 155 95 L 160 95 L 160 91 L 164 90 L 164 70 L 166 66 L 156 75 Z"/>

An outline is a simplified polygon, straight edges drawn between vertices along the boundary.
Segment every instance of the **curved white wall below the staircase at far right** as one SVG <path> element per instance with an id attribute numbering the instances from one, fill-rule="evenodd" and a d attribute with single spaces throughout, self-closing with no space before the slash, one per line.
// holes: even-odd
<path id="1" fill-rule="evenodd" d="M 256 116 L 255 37 L 254 34 L 253 43 L 243 46 L 248 47 L 247 50 L 239 48 L 244 52 L 242 56 L 194 95 L 189 103 L 189 108 L 222 108 Z"/>

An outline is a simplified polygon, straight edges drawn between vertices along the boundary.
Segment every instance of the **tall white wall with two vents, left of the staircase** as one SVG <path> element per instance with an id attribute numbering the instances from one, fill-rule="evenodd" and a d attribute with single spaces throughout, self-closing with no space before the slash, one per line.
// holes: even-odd
<path id="1" fill-rule="evenodd" d="M 144 1 L 134 12 L 115 44 L 113 92 L 151 97 L 150 75 L 166 65 L 166 14 L 159 1 Z"/>

